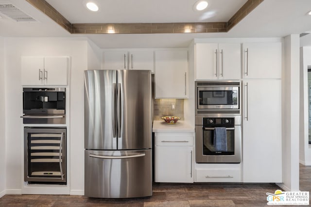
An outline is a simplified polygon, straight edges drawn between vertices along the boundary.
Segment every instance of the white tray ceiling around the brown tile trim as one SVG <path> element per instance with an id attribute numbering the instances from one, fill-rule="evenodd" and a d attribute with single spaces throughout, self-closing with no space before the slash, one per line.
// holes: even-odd
<path id="1" fill-rule="evenodd" d="M 86 11 L 84 0 L 47 1 L 71 23 L 161 23 L 227 21 L 246 0 L 208 0 L 203 13 L 192 10 L 195 0 L 98 0 L 98 14 Z M 193 38 L 284 37 L 311 31 L 311 16 L 306 15 L 311 0 L 264 0 L 229 32 L 179 34 L 70 34 L 26 0 L 0 0 L 3 2 L 15 5 L 37 22 L 15 22 L 0 14 L 0 36 L 88 37 L 100 48 L 188 47 Z M 171 8 L 176 2 L 177 8 Z M 204 19 L 205 13 L 214 15 Z"/>

